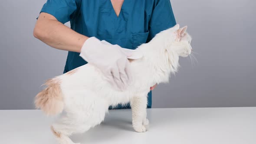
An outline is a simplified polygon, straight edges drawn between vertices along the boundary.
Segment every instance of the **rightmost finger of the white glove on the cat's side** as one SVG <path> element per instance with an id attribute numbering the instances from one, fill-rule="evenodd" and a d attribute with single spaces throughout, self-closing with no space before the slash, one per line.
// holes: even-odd
<path id="1" fill-rule="evenodd" d="M 126 88 L 128 85 L 128 76 L 125 72 L 126 61 L 127 61 L 126 58 L 121 58 L 121 59 L 118 59 L 118 61 L 117 61 L 120 79 L 121 79 L 123 85 L 125 86 L 124 88 Z"/>

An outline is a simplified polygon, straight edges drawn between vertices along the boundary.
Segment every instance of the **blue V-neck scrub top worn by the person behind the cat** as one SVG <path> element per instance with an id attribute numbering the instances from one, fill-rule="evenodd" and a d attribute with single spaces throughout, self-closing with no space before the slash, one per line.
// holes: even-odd
<path id="1" fill-rule="evenodd" d="M 124 0 L 119 16 L 111 0 L 47 0 L 41 12 L 55 16 L 63 24 L 70 21 L 71 29 L 77 33 L 127 49 L 136 49 L 160 31 L 176 25 L 170 0 Z M 64 73 L 86 63 L 79 53 L 69 52 Z M 150 91 L 148 108 L 151 105 Z"/>

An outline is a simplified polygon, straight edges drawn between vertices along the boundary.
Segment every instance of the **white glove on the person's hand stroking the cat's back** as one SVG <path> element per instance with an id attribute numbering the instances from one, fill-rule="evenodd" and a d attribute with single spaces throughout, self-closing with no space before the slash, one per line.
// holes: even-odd
<path id="1" fill-rule="evenodd" d="M 128 84 L 133 83 L 129 59 L 139 59 L 142 54 L 132 49 L 124 49 L 106 41 L 90 37 L 82 46 L 80 55 L 88 63 L 100 69 L 107 81 L 118 88 L 125 90 Z"/>

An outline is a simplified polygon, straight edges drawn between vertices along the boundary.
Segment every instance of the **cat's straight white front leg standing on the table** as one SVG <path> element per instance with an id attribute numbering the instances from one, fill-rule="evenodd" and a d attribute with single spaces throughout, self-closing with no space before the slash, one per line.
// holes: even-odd
<path id="1" fill-rule="evenodd" d="M 149 124 L 147 119 L 147 95 L 135 96 L 131 100 L 132 126 L 137 132 L 145 132 L 146 125 Z"/>

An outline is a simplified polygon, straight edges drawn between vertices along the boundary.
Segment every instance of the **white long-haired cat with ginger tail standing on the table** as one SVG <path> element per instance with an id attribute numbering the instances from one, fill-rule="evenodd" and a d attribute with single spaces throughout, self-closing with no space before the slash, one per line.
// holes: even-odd
<path id="1" fill-rule="evenodd" d="M 49 79 L 46 89 L 36 95 L 35 105 L 47 115 L 66 112 L 51 126 L 59 143 L 73 144 L 69 139 L 71 134 L 85 132 L 100 124 L 110 105 L 128 102 L 132 108 L 133 128 L 137 132 L 146 131 L 150 87 L 168 82 L 171 73 L 177 72 L 179 56 L 186 57 L 191 52 L 191 37 L 186 29 L 176 25 L 136 49 L 143 53 L 143 57 L 131 62 L 134 81 L 125 91 L 112 88 L 102 72 L 90 64 Z"/>

